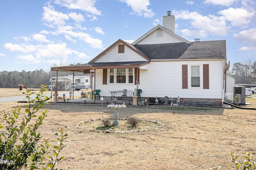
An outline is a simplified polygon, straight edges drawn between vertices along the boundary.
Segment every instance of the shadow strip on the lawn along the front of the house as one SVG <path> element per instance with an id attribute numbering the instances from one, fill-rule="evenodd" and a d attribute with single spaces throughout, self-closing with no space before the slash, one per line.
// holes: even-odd
<path id="1" fill-rule="evenodd" d="M 87 104 L 48 104 L 46 109 L 60 110 L 63 113 L 70 112 L 98 112 L 114 113 L 114 109 L 107 105 L 87 105 Z M 119 109 L 119 117 L 127 117 L 138 113 L 178 113 L 189 115 L 223 115 L 223 108 L 214 107 L 194 107 L 194 106 L 127 106 Z"/>

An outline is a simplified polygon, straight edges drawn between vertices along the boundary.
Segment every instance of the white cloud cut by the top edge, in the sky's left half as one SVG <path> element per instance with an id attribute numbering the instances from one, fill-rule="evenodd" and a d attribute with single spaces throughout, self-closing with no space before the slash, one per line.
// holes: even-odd
<path id="1" fill-rule="evenodd" d="M 54 3 L 65 6 L 68 9 L 82 10 L 94 15 L 101 15 L 101 11 L 94 6 L 96 0 L 55 0 Z"/>

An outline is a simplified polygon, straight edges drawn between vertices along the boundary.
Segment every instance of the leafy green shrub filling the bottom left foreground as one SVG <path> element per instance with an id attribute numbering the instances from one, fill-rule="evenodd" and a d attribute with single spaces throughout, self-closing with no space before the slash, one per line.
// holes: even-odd
<path id="1" fill-rule="evenodd" d="M 26 87 L 24 87 L 26 88 Z M 42 170 L 57 170 L 56 163 L 64 159 L 64 156 L 59 158 L 59 152 L 66 145 L 63 141 L 66 139 L 67 134 L 65 128 L 59 127 L 56 143 L 53 146 L 53 155 L 47 156 L 50 151 L 50 144 L 45 140 L 40 144 L 42 136 L 38 132 L 38 128 L 43 124 L 44 118 L 47 117 L 46 109 L 42 113 L 38 111 L 42 108 L 47 96 L 43 95 L 46 86 L 41 85 L 39 93 L 30 92 L 27 90 L 26 98 L 28 104 L 19 106 L 13 109 L 12 112 L 1 111 L 0 113 L 0 169 L 1 170 L 16 170 L 16 169 L 42 169 Z M 36 99 L 31 100 L 31 95 L 36 94 Z M 48 103 L 46 103 L 48 104 Z M 24 112 L 22 112 L 24 111 Z M 37 117 L 37 118 L 36 118 Z M 5 130 L 3 129 L 5 127 Z M 46 158 L 51 160 L 46 165 Z M 43 166 L 46 166 L 44 168 Z M 69 168 L 66 168 L 69 169 Z"/>

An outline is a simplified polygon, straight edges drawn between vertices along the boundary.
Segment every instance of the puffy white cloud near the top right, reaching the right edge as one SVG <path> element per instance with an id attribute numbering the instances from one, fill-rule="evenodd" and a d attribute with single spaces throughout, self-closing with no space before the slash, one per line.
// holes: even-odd
<path id="1" fill-rule="evenodd" d="M 250 19 L 254 16 L 253 12 L 242 8 L 228 8 L 218 12 L 225 20 L 231 22 L 233 26 L 245 27 L 246 24 L 250 23 Z"/>

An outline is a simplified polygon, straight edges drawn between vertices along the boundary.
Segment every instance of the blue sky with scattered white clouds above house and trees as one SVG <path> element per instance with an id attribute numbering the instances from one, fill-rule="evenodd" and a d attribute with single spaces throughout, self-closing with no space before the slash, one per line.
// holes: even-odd
<path id="1" fill-rule="evenodd" d="M 162 25 L 167 11 L 181 37 L 225 39 L 231 64 L 256 61 L 255 0 L 1 0 L 0 71 L 88 63 Z"/>

